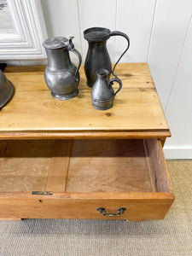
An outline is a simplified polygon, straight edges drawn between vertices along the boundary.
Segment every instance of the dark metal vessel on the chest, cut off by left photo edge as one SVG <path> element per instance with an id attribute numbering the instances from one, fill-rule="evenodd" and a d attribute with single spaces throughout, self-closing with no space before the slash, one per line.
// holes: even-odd
<path id="1" fill-rule="evenodd" d="M 0 70 L 0 108 L 2 108 L 13 95 L 14 86 Z"/>

